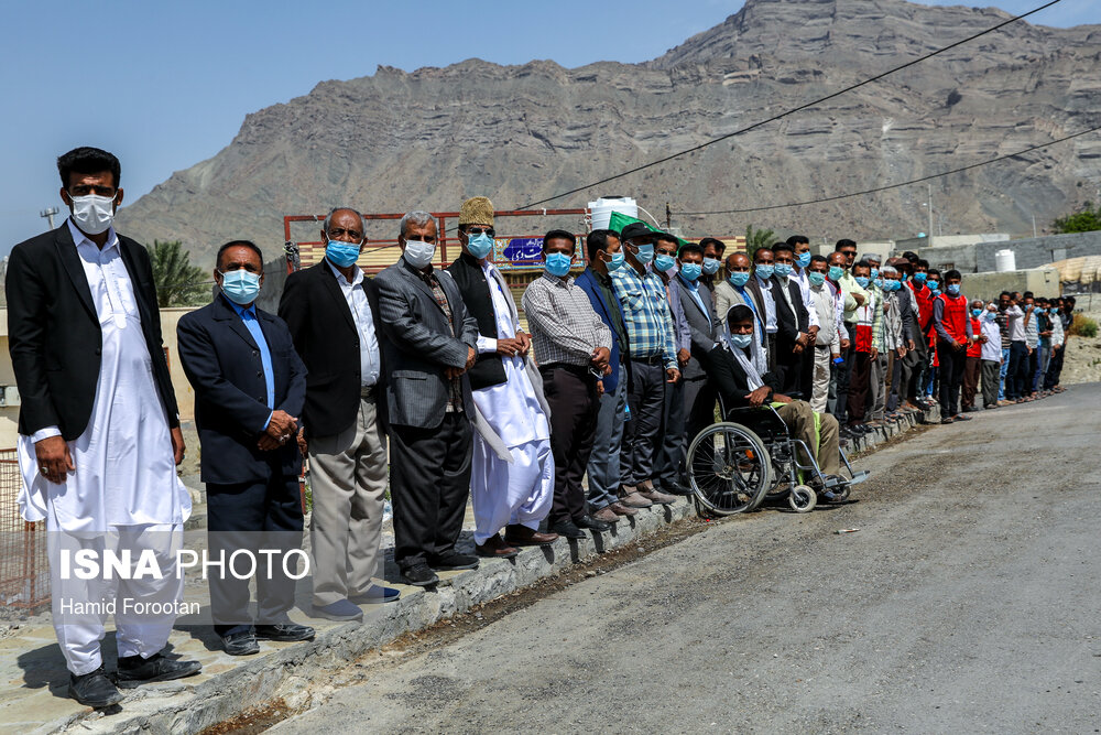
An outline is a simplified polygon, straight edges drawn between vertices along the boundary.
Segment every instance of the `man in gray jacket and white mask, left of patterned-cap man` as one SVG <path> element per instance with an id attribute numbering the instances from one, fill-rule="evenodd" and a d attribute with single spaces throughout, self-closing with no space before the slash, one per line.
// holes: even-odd
<path id="1" fill-rule="evenodd" d="M 402 257 L 379 273 L 394 559 L 410 584 L 429 586 L 434 570 L 475 569 L 455 550 L 470 494 L 475 417 L 466 375 L 478 357 L 478 322 L 455 280 L 433 268 L 436 220 L 402 217 Z"/>

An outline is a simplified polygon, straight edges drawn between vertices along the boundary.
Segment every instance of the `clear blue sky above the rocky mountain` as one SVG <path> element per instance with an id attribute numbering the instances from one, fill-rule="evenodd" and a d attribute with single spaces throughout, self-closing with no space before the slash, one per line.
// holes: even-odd
<path id="1" fill-rule="evenodd" d="M 935 0 L 937 4 L 958 4 Z M 1042 0 L 1002 0 L 1023 12 Z M 287 2 L 119 0 L 4 3 L 0 47 L 0 255 L 62 206 L 58 154 L 98 145 L 122 161 L 127 199 L 227 145 L 244 116 L 318 82 L 477 56 L 574 67 L 642 62 L 720 23 L 741 0 L 634 2 Z M 415 10 L 413 10 L 415 9 Z M 1101 23 L 1097 0 L 1033 22 Z M 64 215 L 64 212 L 63 212 Z"/>

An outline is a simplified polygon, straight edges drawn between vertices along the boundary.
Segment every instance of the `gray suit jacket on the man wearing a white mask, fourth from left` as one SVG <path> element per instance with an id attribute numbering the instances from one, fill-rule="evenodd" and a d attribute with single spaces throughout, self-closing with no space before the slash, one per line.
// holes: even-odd
<path id="1" fill-rule="evenodd" d="M 478 323 L 467 313 L 459 288 L 449 274 L 434 272 L 447 295 L 454 332 L 432 289 L 404 258 L 374 279 L 386 336 L 381 346 L 385 350 L 383 365 L 392 425 L 438 426 L 444 421 L 449 390 L 445 368 L 466 367 L 467 349 L 478 349 Z M 470 381 L 462 376 L 461 382 L 464 410 L 473 420 Z"/>

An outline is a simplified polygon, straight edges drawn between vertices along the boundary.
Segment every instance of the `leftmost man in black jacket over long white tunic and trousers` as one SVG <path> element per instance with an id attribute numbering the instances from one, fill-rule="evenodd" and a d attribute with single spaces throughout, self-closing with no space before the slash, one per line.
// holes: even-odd
<path id="1" fill-rule="evenodd" d="M 149 253 L 112 227 L 122 203 L 119 160 L 78 148 L 57 159 L 57 170 L 70 216 L 17 245 L 8 261 L 8 341 L 22 399 L 19 502 L 25 520 L 44 519 L 51 531 L 54 627 L 69 692 L 108 706 L 122 694 L 100 655 L 106 613 L 74 619 L 61 605 L 116 606 L 120 685 L 178 679 L 200 666 L 161 655 L 175 616 L 129 614 L 124 602 L 178 602 L 182 580 L 81 586 L 58 577 L 53 554 L 62 543 L 101 550 L 105 541 L 140 553 L 155 536 L 181 531 L 190 499 L 176 477 L 184 440 Z M 160 561 L 163 549 L 154 551 Z"/>

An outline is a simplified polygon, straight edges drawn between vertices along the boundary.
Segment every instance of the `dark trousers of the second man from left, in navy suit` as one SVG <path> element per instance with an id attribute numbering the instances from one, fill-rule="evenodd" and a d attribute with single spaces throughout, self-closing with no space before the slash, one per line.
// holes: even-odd
<path id="1" fill-rule="evenodd" d="M 298 478 L 274 472 L 268 480 L 217 485 L 207 483 L 207 540 L 211 559 L 225 559 L 238 550 L 248 550 L 258 561 L 255 572 L 258 614 L 255 623 L 281 623 L 294 606 L 294 580 L 283 571 L 284 554 L 302 548 L 302 495 Z M 261 550 L 277 549 L 279 555 L 265 558 Z M 271 570 L 266 559 L 271 559 Z M 251 561 L 239 554 L 233 569 L 243 575 Z M 271 571 L 271 574 L 269 574 Z M 238 580 L 230 570 L 211 569 L 210 612 L 219 636 L 244 633 L 252 628 L 249 613 L 249 580 Z"/>

